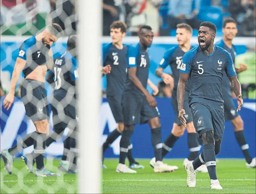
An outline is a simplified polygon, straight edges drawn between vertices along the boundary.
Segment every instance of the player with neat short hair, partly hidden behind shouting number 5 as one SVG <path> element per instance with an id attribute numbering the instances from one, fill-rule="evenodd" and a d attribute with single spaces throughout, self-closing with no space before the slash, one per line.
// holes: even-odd
<path id="1" fill-rule="evenodd" d="M 190 45 L 190 39 L 192 37 L 192 28 L 190 25 L 182 23 L 178 24 L 176 30 L 176 38 L 178 41 L 178 45 L 172 47 L 167 50 L 163 55 L 163 58 L 160 62 L 160 65 L 156 69 L 156 75 L 159 78 L 162 78 L 166 84 L 172 83 L 172 78 L 169 74 L 163 73 L 163 69 L 165 69 L 168 65 L 170 65 L 172 70 L 172 76 L 174 78 L 174 88 L 172 90 L 172 106 L 175 112 L 175 121 L 172 127 L 171 134 L 167 137 L 167 139 L 163 142 L 162 147 L 162 158 L 171 151 L 177 139 L 184 134 L 185 127 L 181 124 L 179 119 L 179 111 L 178 111 L 178 102 L 177 102 L 177 86 L 180 75 L 180 66 L 183 55 L 189 51 L 192 47 Z M 188 130 L 188 146 L 190 154 L 188 158 L 184 159 L 183 165 L 188 161 L 194 161 L 196 157 L 199 155 L 199 150 L 201 145 L 198 142 L 198 134 L 195 131 L 195 127 L 192 120 L 191 111 L 189 109 L 189 84 L 186 82 L 185 88 L 185 97 L 184 97 L 184 109 L 186 114 L 184 117 L 186 118 L 186 129 Z M 150 160 L 150 165 L 153 167 L 155 165 L 155 158 Z M 207 173 L 207 168 L 205 165 L 200 166 L 196 171 Z"/>

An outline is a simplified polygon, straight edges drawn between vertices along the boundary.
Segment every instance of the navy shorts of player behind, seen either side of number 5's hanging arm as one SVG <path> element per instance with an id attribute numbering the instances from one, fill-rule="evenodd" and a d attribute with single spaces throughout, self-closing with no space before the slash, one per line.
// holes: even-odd
<path id="1" fill-rule="evenodd" d="M 175 113 L 175 121 L 174 121 L 174 123 L 177 123 L 180 126 L 181 122 L 180 122 L 180 119 L 179 119 L 177 90 L 172 90 L 171 103 L 172 103 L 172 107 L 173 107 L 174 113 Z M 183 109 L 186 112 L 186 114 L 184 114 L 183 116 L 186 119 L 187 123 L 193 121 L 191 110 L 189 108 L 189 93 L 188 92 L 185 92 Z"/>

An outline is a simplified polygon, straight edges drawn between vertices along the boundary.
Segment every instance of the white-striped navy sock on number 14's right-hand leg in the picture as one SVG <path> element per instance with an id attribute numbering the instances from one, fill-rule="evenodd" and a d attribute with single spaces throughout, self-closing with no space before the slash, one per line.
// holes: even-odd
<path id="1" fill-rule="evenodd" d="M 154 147 L 156 161 L 162 161 L 161 127 L 151 129 L 152 145 Z"/>

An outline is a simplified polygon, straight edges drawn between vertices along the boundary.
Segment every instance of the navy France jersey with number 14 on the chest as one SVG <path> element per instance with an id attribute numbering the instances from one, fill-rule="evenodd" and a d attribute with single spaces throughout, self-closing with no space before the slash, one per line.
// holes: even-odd
<path id="1" fill-rule="evenodd" d="M 139 43 L 132 45 L 128 50 L 128 68 L 136 67 L 136 76 L 141 81 L 144 88 L 147 88 L 148 71 L 150 67 L 150 56 Z M 142 92 L 127 79 L 124 90 L 133 94 L 144 95 Z"/>

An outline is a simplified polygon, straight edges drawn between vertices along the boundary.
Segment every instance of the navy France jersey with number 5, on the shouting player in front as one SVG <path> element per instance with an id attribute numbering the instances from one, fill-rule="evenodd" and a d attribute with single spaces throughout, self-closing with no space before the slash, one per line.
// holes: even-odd
<path id="1" fill-rule="evenodd" d="M 231 55 L 224 49 L 214 46 L 214 52 L 205 54 L 196 46 L 183 56 L 181 73 L 189 74 L 189 104 L 200 102 L 223 110 L 222 76 L 236 75 Z"/>

